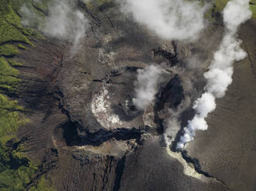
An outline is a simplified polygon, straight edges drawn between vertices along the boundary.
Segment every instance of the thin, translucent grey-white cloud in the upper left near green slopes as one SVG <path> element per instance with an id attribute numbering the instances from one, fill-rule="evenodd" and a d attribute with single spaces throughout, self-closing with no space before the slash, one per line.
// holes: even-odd
<path id="1" fill-rule="evenodd" d="M 36 0 L 40 2 L 40 0 Z M 75 54 L 80 49 L 80 41 L 86 35 L 87 18 L 80 12 L 72 1 L 68 0 L 53 0 L 49 5 L 49 16 L 44 20 L 43 18 L 37 18 L 43 25 L 37 26 L 38 29 L 44 32 L 46 35 L 55 37 L 58 39 L 64 39 L 72 43 L 71 55 Z M 35 18 L 38 17 L 35 12 L 32 12 L 31 8 L 27 8 L 23 5 L 21 12 L 26 15 L 23 19 L 24 25 L 31 25 Z"/>

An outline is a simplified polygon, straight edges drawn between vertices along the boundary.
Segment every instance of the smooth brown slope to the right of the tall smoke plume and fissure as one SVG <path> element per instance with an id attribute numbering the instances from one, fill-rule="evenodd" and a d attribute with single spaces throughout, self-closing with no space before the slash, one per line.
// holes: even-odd
<path id="1" fill-rule="evenodd" d="M 203 171 L 222 180 L 230 190 L 256 189 L 256 75 L 255 21 L 243 25 L 240 37 L 247 59 L 237 62 L 227 95 L 207 119 L 209 129 L 199 132 L 187 148 Z"/>

